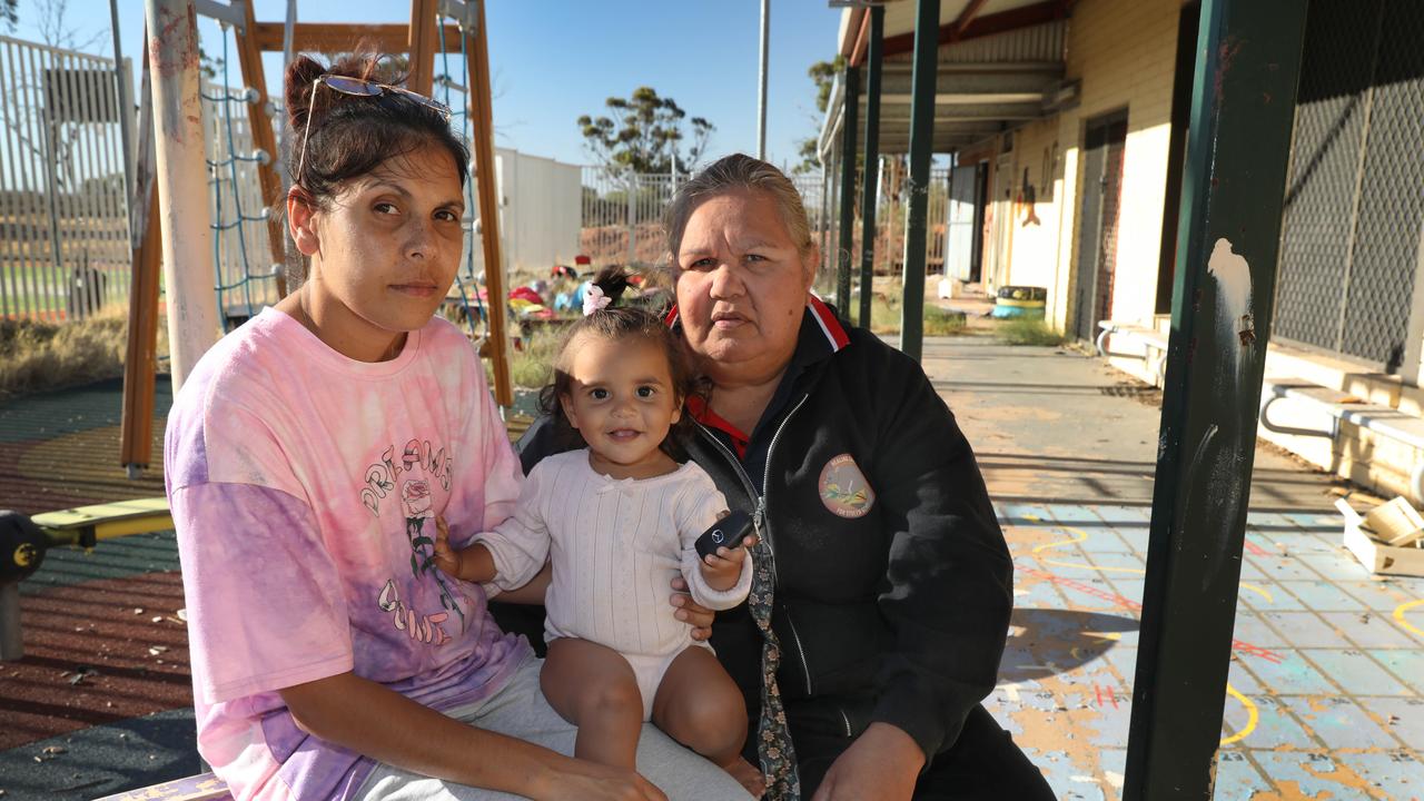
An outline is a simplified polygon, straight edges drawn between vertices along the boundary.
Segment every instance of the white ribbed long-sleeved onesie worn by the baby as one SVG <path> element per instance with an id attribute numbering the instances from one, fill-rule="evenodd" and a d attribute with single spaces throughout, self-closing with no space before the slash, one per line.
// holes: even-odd
<path id="1" fill-rule="evenodd" d="M 693 547 L 726 510 L 712 477 L 692 462 L 652 479 L 611 479 L 588 465 L 588 450 L 548 456 L 534 466 L 514 515 L 476 537 L 494 557 L 494 586 L 525 584 L 553 560 L 544 636 L 578 637 L 624 654 L 642 690 L 644 718 L 672 660 L 692 644 L 692 629 L 668 603 L 681 572 L 692 599 L 731 609 L 752 587 L 752 560 L 725 591 L 706 584 Z"/>

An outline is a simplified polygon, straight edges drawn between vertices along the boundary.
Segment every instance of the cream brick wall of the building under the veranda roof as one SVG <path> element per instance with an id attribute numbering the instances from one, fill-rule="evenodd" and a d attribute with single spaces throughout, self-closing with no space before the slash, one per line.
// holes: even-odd
<path id="1" fill-rule="evenodd" d="M 1067 77 L 1082 80 L 1081 103 L 1017 131 L 1014 195 L 1028 168 L 1041 202 L 1034 210 L 1038 224 L 1022 225 L 1025 215 L 1021 210 L 1015 214 L 1002 282 L 1048 286 L 1048 318 L 1058 328 L 1067 328 L 1075 314 L 1071 299 L 1087 123 L 1122 110 L 1128 113 L 1128 140 L 1111 316 L 1149 322 L 1155 312 L 1180 7 L 1180 0 L 1079 0 L 1069 23 Z M 1042 200 L 1049 195 L 1051 201 Z"/>

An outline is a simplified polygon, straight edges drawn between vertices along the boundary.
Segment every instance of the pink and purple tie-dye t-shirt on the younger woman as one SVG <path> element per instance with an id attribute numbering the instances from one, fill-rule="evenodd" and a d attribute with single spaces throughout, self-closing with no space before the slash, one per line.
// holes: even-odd
<path id="1" fill-rule="evenodd" d="M 346 798 L 372 768 L 298 728 L 283 687 L 353 671 L 447 710 L 528 657 L 478 586 L 433 563 L 436 515 L 487 530 L 521 482 L 484 371 L 449 322 L 366 363 L 265 309 L 188 378 L 164 467 L 198 748 L 239 801 Z"/>

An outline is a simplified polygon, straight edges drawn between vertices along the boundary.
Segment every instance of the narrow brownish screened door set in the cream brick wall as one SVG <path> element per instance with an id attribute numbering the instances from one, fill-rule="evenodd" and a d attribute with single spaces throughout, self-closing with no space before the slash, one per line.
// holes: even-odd
<path id="1" fill-rule="evenodd" d="M 1114 115 L 1088 123 L 1084 143 L 1082 202 L 1078 212 L 1078 316 L 1074 334 L 1096 336 L 1098 321 L 1112 312 L 1112 282 L 1118 267 L 1118 205 L 1122 200 L 1122 158 L 1128 118 Z"/>

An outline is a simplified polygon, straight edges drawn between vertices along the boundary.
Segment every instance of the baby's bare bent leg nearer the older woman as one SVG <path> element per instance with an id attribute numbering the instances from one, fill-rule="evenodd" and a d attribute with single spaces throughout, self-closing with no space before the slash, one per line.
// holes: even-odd
<path id="1" fill-rule="evenodd" d="M 668 666 L 652 700 L 652 721 L 723 768 L 746 741 L 746 701 L 712 651 L 689 646 Z"/>

